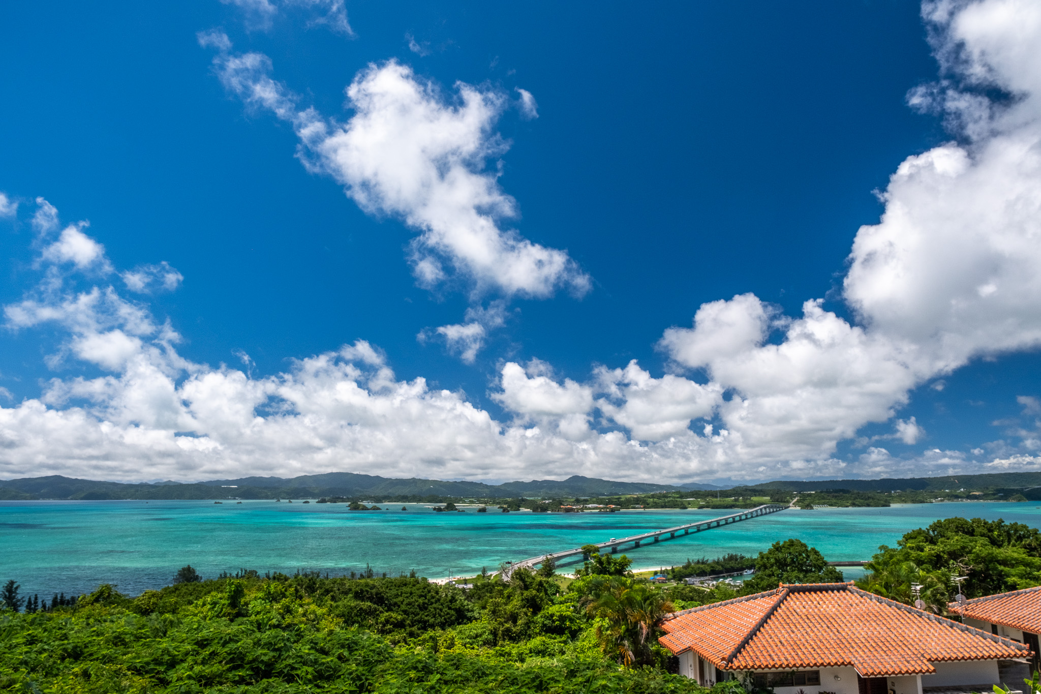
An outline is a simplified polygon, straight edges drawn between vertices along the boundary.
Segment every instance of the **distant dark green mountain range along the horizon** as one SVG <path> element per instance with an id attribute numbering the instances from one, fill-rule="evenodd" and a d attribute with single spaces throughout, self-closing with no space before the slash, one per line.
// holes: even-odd
<path id="1" fill-rule="evenodd" d="M 815 480 L 777 481 L 743 485 L 742 490 L 753 491 L 822 491 L 848 489 L 850 491 L 926 490 L 943 491 L 966 489 L 985 491 L 993 489 L 1041 488 L 1041 472 L 997 472 L 993 474 L 954 474 L 940 478 L 905 478 L 882 480 Z M 453 498 L 551 498 L 576 496 L 609 496 L 640 494 L 659 491 L 706 491 L 732 489 L 702 483 L 680 486 L 640 482 L 612 482 L 578 474 L 563 481 L 532 480 L 487 485 L 482 482 L 452 482 L 409 478 L 398 480 L 375 474 L 355 472 L 326 472 L 302 474 L 297 478 L 239 478 L 237 480 L 210 480 L 195 484 L 158 482 L 155 484 L 124 484 L 77 480 L 59 474 L 45 478 L 0 480 L 0 500 L 36 498 L 57 499 L 177 499 L 177 498 L 315 498 L 344 496 L 348 498 L 410 497 L 420 499 Z M 1038 494 L 1027 494 L 1029 497 Z"/>

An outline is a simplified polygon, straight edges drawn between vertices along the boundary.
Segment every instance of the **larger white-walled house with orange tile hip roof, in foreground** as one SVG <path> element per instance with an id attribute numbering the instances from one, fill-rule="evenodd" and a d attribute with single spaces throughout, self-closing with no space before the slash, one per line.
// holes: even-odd
<path id="1" fill-rule="evenodd" d="M 752 679 L 777 694 L 988 692 L 998 661 L 1029 646 L 856 588 L 781 585 L 667 615 L 659 641 L 711 687 Z M 1012 691 L 1022 685 L 1009 683 Z"/>

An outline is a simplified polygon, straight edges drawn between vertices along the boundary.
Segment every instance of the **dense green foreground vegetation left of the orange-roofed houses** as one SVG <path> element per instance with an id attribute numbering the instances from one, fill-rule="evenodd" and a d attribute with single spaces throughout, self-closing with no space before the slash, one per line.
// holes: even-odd
<path id="1" fill-rule="evenodd" d="M 550 573 L 485 574 L 471 590 L 256 571 L 135 598 L 105 585 L 0 613 L 0 691 L 705 692 L 668 672 L 662 592 L 618 575 L 563 591 Z"/>

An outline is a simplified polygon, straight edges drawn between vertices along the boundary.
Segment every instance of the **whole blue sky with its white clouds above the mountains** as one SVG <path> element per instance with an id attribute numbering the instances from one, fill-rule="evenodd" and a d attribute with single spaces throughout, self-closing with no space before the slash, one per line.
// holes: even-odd
<path id="1" fill-rule="evenodd" d="M 1013 50 L 1036 11 L 940 9 L 12 7 L 0 478 L 1036 469 L 1036 145 L 1018 163 L 994 153 L 1037 131 L 1035 69 Z M 346 100 L 352 82 L 383 105 Z M 257 98 L 265 84 L 277 98 Z M 379 140 L 387 123 L 399 132 Z M 308 140 L 315 124 L 326 135 Z M 393 159 L 399 145 L 414 151 Z M 948 175 L 958 152 L 969 163 Z M 954 182 L 912 172 L 882 196 L 918 155 Z M 399 195 L 421 164 L 433 192 Z M 1015 204 L 973 197 L 988 186 L 1019 191 Z M 50 227 L 32 222 L 37 197 L 57 210 Z M 950 200 L 965 201 L 956 232 Z M 918 212 L 882 236 L 924 240 L 888 266 L 872 264 L 879 249 L 850 258 L 887 204 Z M 79 221 L 103 249 L 75 256 L 85 241 L 61 234 Z M 513 251 L 475 260 L 459 229 Z M 563 264 L 526 274 L 532 248 Z M 134 291 L 134 277 L 166 277 L 170 287 Z M 108 299 L 70 308 L 93 287 Z M 963 294 L 1001 304 L 937 313 Z M 802 349 L 786 331 L 823 325 L 805 323 L 815 299 L 839 322 L 828 330 L 863 343 L 818 340 L 794 378 L 769 348 Z M 689 330 L 706 304 L 765 332 L 748 342 L 708 314 Z M 662 341 L 670 327 L 688 330 Z M 309 370 L 345 344 L 335 367 Z M 614 370 L 631 360 L 638 372 Z M 345 388 L 364 394 L 337 401 Z"/>

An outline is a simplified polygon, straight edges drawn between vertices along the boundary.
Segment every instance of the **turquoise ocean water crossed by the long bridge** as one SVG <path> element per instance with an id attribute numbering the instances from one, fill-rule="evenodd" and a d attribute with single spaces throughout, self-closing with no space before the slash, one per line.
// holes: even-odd
<path id="1" fill-rule="evenodd" d="M 438 577 L 493 570 L 549 551 L 714 518 L 733 511 L 624 511 L 578 514 L 435 513 L 425 505 L 348 511 L 342 504 L 225 502 L 0 502 L 0 582 L 23 594 L 82 593 L 112 583 L 135 595 L 169 585 L 191 564 L 204 577 L 239 568 L 330 574 L 408 572 Z M 798 538 L 830 561 L 870 559 L 937 518 L 982 517 L 1041 523 L 1036 502 L 951 503 L 884 509 L 786 510 L 732 525 L 624 549 L 634 567 L 688 558 L 755 555 Z M 563 570 L 566 570 L 562 567 Z M 846 579 L 861 569 L 842 569 Z"/>

